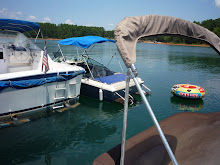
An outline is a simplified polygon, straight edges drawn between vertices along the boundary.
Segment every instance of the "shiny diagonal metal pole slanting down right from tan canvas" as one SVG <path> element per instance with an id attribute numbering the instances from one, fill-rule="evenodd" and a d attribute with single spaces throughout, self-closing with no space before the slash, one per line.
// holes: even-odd
<path id="1" fill-rule="evenodd" d="M 151 106 L 150 106 L 150 104 L 149 104 L 149 102 L 148 102 L 146 96 L 144 95 L 144 93 L 143 93 L 143 91 L 142 91 L 142 89 L 141 89 L 141 86 L 140 86 L 140 84 L 138 83 L 138 80 L 136 79 L 137 70 L 136 70 L 134 64 L 132 64 L 132 65 L 131 65 L 131 68 L 129 68 L 128 70 L 129 70 L 130 75 L 131 75 L 132 79 L 134 80 L 135 85 L 136 85 L 136 87 L 137 87 L 137 89 L 138 89 L 138 91 L 139 91 L 139 93 L 140 93 L 140 95 L 141 95 L 141 97 L 142 97 L 142 99 L 143 99 L 143 101 L 144 101 L 145 106 L 147 107 L 147 110 L 148 110 L 148 112 L 149 112 L 149 114 L 150 114 L 150 116 L 151 116 L 151 119 L 153 120 L 154 125 L 156 126 L 157 131 L 159 132 L 159 135 L 160 135 L 160 137 L 161 137 L 161 139 L 162 139 L 162 141 L 163 141 L 164 146 L 166 147 L 166 150 L 167 150 L 167 152 L 168 152 L 168 154 L 169 154 L 169 156 L 170 156 L 170 159 L 173 161 L 173 164 L 178 165 L 178 163 L 177 163 L 177 161 L 176 161 L 176 158 L 175 158 L 175 156 L 174 156 L 174 154 L 173 154 L 173 152 L 172 152 L 172 150 L 171 150 L 171 148 L 170 148 L 170 146 L 169 146 L 169 144 L 168 144 L 168 142 L 167 142 L 167 139 L 166 139 L 166 137 L 164 136 L 164 133 L 163 133 L 163 131 L 162 131 L 162 129 L 161 129 L 161 127 L 160 127 L 160 125 L 159 125 L 159 123 L 158 123 L 158 121 L 157 121 L 155 115 L 154 115 L 154 112 L 153 112 L 153 110 L 151 109 Z"/>

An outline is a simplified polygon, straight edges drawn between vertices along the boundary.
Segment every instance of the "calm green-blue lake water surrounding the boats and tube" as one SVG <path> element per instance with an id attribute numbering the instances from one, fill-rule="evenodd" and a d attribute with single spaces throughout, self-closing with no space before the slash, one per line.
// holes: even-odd
<path id="1" fill-rule="evenodd" d="M 38 45 L 43 48 L 42 41 Z M 58 50 L 57 41 L 47 41 L 47 47 L 52 55 Z M 106 65 L 111 53 L 116 52 L 117 58 L 109 67 L 121 71 L 119 61 L 126 72 L 114 44 L 99 44 L 97 49 L 91 51 L 92 56 Z M 76 51 L 75 47 L 63 47 L 65 54 Z M 139 77 L 152 90 L 147 98 L 159 121 L 184 111 L 220 110 L 220 57 L 212 48 L 138 43 L 135 65 Z M 178 83 L 199 85 L 206 95 L 197 101 L 173 97 L 170 90 Z M 153 125 L 140 97 L 137 99 L 139 103 L 129 107 L 127 138 Z M 0 129 L 1 164 L 90 165 L 100 154 L 121 143 L 123 105 L 83 96 L 79 103 L 63 113 Z"/>

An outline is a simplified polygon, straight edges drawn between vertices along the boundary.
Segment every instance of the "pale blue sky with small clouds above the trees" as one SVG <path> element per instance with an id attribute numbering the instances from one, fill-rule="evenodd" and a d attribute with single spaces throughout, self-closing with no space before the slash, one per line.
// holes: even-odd
<path id="1" fill-rule="evenodd" d="M 220 18 L 220 0 L 1 0 L 0 18 L 113 30 L 125 17 L 167 15 L 188 21 Z"/>

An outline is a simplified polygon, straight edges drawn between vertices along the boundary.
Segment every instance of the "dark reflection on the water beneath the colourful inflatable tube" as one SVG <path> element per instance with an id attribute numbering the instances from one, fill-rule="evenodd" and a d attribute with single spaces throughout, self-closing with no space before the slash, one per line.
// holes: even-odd
<path id="1" fill-rule="evenodd" d="M 176 96 L 170 97 L 170 102 L 172 107 L 182 111 L 192 111 L 198 112 L 203 107 L 203 100 L 190 100 L 190 99 L 183 99 Z"/>

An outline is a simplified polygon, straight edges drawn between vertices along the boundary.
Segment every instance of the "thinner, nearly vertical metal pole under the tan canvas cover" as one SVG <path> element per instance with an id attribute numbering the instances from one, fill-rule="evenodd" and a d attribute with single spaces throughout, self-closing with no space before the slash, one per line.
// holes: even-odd
<path id="1" fill-rule="evenodd" d="M 129 76 L 129 72 L 127 72 L 126 88 L 125 88 L 125 101 L 124 101 L 124 120 L 123 120 L 123 131 L 122 131 L 122 144 L 121 144 L 121 161 L 120 161 L 120 165 L 124 165 L 124 157 L 125 157 L 125 140 L 126 140 L 127 116 L 128 116 L 129 82 L 130 82 L 130 76 Z"/>

